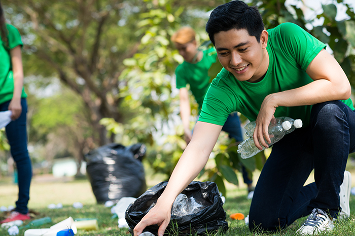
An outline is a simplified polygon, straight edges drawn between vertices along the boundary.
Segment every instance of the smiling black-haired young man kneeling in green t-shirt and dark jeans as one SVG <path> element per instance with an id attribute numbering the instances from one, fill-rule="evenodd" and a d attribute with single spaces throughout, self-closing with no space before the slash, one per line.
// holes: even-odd
<path id="1" fill-rule="evenodd" d="M 273 117 L 304 124 L 273 145 L 255 188 L 250 229 L 277 230 L 308 214 L 300 234 L 331 229 L 340 210 L 349 215 L 345 166 L 355 149 L 355 112 L 344 71 L 306 31 L 291 23 L 266 31 L 257 8 L 241 1 L 217 7 L 206 31 L 224 68 L 204 98 L 191 142 L 165 191 L 134 234 L 158 224 L 163 235 L 175 197 L 205 165 L 234 110 L 256 121 L 253 138 L 260 149 L 268 147 Z M 313 169 L 315 182 L 303 186 Z"/>

